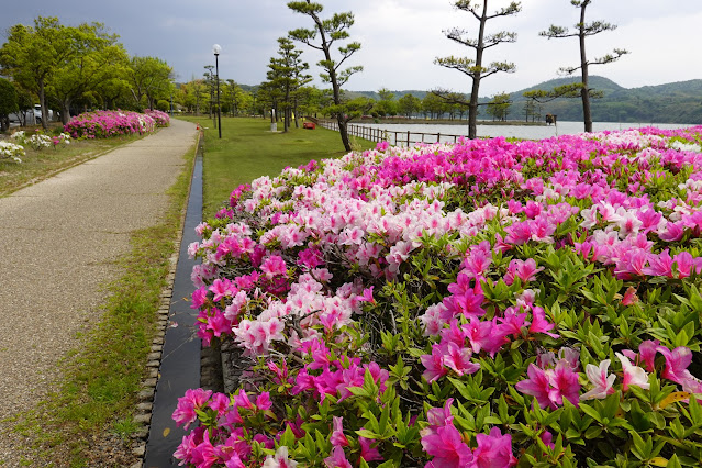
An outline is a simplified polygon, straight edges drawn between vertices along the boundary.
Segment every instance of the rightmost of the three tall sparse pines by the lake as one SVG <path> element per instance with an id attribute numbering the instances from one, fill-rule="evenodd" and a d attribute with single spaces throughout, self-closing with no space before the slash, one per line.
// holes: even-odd
<path id="1" fill-rule="evenodd" d="M 590 99 L 595 96 L 594 90 L 590 89 L 588 83 L 589 67 L 590 65 L 604 65 L 617 60 L 622 55 L 628 54 L 628 51 L 623 48 L 615 48 L 612 53 L 593 60 L 588 59 L 586 54 L 586 38 L 595 34 L 603 33 L 605 31 L 614 31 L 616 25 L 604 23 L 602 21 L 593 21 L 586 23 L 586 9 L 592 0 L 570 0 L 570 3 L 580 9 L 580 21 L 575 25 L 575 30 L 570 31 L 567 27 L 553 25 L 548 31 L 542 31 L 541 36 L 548 38 L 565 38 L 565 37 L 578 37 L 580 45 L 580 65 L 576 67 L 562 67 L 560 71 L 566 75 L 572 75 L 577 70 L 580 70 L 581 81 L 579 83 L 566 85 L 554 89 L 549 93 L 546 93 L 547 98 L 557 97 L 575 97 L 579 96 L 582 99 L 582 113 L 584 121 L 584 131 L 592 132 L 592 110 L 590 108 Z"/>

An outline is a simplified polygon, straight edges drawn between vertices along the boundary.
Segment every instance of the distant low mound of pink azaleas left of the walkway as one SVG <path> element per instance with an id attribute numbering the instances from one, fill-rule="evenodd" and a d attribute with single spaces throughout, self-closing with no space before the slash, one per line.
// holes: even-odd
<path id="1" fill-rule="evenodd" d="M 94 111 L 76 115 L 64 125 L 74 138 L 108 138 L 153 132 L 153 118 L 130 111 Z"/>

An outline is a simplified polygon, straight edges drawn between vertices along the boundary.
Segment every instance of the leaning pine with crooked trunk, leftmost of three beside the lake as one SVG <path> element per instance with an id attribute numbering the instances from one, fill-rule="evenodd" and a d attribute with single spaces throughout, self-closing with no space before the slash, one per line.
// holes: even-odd
<path id="1" fill-rule="evenodd" d="M 334 44 L 345 41 L 349 37 L 348 29 L 354 25 L 354 14 L 352 12 L 334 13 L 332 18 L 323 20 L 320 13 L 324 7 L 320 3 L 307 1 L 288 2 L 288 8 L 301 14 L 305 14 L 314 22 L 314 29 L 298 29 L 290 32 L 290 37 L 299 41 L 310 47 L 322 52 L 324 59 L 317 62 L 317 65 L 324 69 L 321 75 L 325 82 L 332 85 L 332 96 L 334 105 L 331 113 L 338 123 L 342 143 L 347 152 L 352 149 L 348 140 L 347 124 L 355 112 L 349 112 L 342 99 L 342 87 L 348 81 L 352 75 L 361 71 L 363 66 L 356 65 L 342 68 L 346 60 L 360 49 L 360 43 L 350 42 L 337 48 L 339 58 L 332 58 L 332 47 Z"/>

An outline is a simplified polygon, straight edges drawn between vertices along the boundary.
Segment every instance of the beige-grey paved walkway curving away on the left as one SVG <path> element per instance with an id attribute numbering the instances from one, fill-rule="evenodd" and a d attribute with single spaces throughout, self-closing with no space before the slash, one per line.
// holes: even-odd
<path id="1" fill-rule="evenodd" d="M 194 124 L 172 121 L 0 198 L 0 466 L 18 463 L 2 419 L 46 394 L 76 334 L 96 322 L 131 233 L 161 216 L 194 138 Z"/>

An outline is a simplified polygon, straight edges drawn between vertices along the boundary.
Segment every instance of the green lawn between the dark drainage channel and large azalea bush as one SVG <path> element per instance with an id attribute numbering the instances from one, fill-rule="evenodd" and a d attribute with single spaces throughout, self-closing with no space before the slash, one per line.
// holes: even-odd
<path id="1" fill-rule="evenodd" d="M 204 219 L 211 218 L 229 200 L 232 190 L 242 183 L 261 176 L 276 176 L 288 166 L 298 167 L 311 159 L 346 154 L 338 133 L 319 126 L 271 133 L 268 120 L 223 118 L 220 140 L 218 130 L 207 116 L 182 119 L 208 127 L 204 131 Z M 281 129 L 282 123 L 278 127 Z M 354 142 L 357 149 L 375 145 L 358 138 Z"/>

